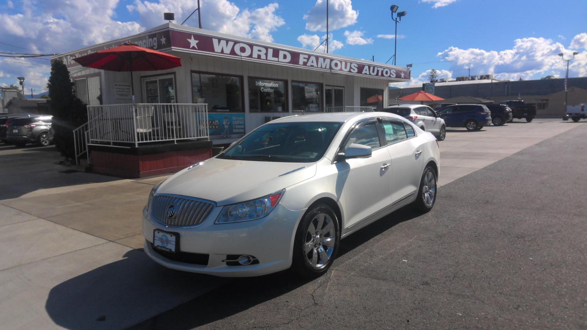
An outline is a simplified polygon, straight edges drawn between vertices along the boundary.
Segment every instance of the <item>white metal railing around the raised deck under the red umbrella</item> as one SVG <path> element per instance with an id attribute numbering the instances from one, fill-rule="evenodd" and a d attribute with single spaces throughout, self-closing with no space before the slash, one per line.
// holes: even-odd
<path id="1" fill-rule="evenodd" d="M 134 103 L 87 107 L 88 143 L 162 142 L 209 139 L 208 105 Z"/>

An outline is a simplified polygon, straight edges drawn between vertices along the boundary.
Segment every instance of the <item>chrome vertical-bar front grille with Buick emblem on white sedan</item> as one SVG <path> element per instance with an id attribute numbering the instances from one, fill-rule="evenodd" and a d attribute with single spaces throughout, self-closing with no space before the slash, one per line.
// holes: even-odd
<path id="1" fill-rule="evenodd" d="M 169 226 L 201 224 L 214 210 L 214 204 L 176 196 L 155 196 L 151 204 L 151 216 Z"/>

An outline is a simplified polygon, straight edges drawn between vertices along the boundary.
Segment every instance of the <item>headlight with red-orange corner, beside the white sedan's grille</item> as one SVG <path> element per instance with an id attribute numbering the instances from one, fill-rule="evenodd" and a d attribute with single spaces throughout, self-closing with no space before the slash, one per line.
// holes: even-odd
<path id="1" fill-rule="evenodd" d="M 220 214 L 218 214 L 215 223 L 238 223 L 265 217 L 279 203 L 281 196 L 284 195 L 284 191 L 285 189 L 265 197 L 257 198 L 256 200 L 224 206 Z"/>

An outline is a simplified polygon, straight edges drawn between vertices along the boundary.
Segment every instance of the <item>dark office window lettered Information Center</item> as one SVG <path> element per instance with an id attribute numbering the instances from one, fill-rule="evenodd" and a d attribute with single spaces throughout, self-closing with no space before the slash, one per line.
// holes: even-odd
<path id="1" fill-rule="evenodd" d="M 285 81 L 249 78 L 250 112 L 286 112 Z"/>

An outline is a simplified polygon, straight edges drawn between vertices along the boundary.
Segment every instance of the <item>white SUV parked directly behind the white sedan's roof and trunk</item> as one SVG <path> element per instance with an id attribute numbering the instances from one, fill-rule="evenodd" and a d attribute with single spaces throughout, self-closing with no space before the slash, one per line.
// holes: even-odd
<path id="1" fill-rule="evenodd" d="M 411 120 L 420 129 L 432 133 L 438 141 L 446 137 L 446 125 L 444 120 L 429 106 L 423 105 L 393 105 L 381 110 L 382 112 L 395 113 L 407 120 Z"/>

